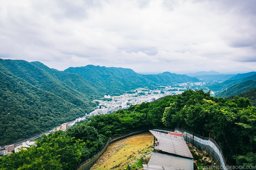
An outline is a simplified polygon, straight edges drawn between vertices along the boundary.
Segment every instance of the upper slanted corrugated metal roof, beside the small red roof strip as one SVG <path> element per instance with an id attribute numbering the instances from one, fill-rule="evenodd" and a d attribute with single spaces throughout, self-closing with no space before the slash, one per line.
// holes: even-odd
<path id="1" fill-rule="evenodd" d="M 193 158 L 183 137 L 177 137 L 153 130 L 149 130 L 159 142 L 155 149 L 167 153 L 180 155 L 187 158 Z"/>

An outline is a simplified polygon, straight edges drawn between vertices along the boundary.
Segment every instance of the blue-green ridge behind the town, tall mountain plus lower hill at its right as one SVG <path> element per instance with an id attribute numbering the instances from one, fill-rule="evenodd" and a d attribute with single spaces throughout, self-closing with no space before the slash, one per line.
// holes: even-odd
<path id="1" fill-rule="evenodd" d="M 116 67 L 100 67 L 87 65 L 85 67 L 70 67 L 64 72 L 76 73 L 91 81 L 106 88 L 110 94 L 123 94 L 125 91 L 157 84 L 173 85 L 185 82 L 198 82 L 197 78 L 191 78 L 187 75 L 172 74 L 164 72 L 157 75 L 138 74 L 131 69 L 116 68 Z"/>

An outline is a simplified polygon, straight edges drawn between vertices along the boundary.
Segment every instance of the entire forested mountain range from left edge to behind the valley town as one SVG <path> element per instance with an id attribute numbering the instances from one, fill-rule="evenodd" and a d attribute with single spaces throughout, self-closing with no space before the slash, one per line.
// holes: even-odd
<path id="1" fill-rule="evenodd" d="M 50 69 L 40 62 L 0 59 L 0 144 L 73 121 L 95 109 L 94 99 L 138 87 L 199 81 L 164 72 L 143 75 L 131 69 L 100 67 Z"/>

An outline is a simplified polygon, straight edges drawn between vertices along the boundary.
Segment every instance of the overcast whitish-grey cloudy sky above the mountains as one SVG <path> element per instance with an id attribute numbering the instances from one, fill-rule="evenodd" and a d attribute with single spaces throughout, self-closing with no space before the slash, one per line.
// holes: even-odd
<path id="1" fill-rule="evenodd" d="M 254 0 L 1 0 L 0 58 L 65 70 L 256 69 Z"/>

